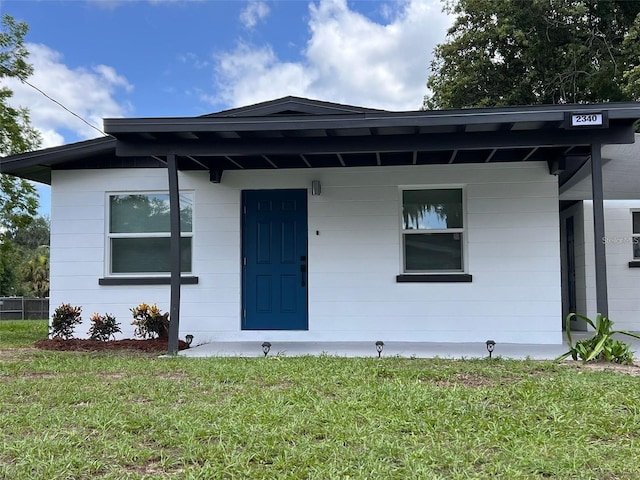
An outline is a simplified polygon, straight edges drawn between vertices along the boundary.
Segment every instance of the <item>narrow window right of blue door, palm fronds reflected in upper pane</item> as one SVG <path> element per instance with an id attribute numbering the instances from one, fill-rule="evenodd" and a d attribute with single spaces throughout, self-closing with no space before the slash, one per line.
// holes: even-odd
<path id="1" fill-rule="evenodd" d="M 462 188 L 402 190 L 404 273 L 464 271 Z"/>

